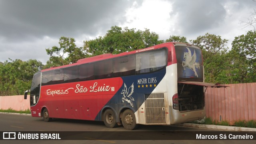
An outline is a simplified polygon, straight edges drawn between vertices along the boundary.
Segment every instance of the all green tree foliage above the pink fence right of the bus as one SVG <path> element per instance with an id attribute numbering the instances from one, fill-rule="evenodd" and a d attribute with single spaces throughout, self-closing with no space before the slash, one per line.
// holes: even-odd
<path id="1" fill-rule="evenodd" d="M 230 51 L 226 47 L 228 40 L 220 36 L 207 33 L 191 40 L 202 49 L 205 81 L 226 84 L 256 82 L 255 37 L 255 31 L 235 37 Z"/>

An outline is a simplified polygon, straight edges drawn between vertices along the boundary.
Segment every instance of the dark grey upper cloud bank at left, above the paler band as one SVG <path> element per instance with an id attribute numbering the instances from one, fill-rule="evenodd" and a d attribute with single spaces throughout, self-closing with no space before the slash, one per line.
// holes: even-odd
<path id="1" fill-rule="evenodd" d="M 93 35 L 98 31 L 98 22 L 106 22 L 103 27 L 108 28 L 114 25 L 116 14 L 124 13 L 127 3 L 126 0 L 5 0 L 0 4 L 0 36 L 19 41 L 30 36 Z"/>

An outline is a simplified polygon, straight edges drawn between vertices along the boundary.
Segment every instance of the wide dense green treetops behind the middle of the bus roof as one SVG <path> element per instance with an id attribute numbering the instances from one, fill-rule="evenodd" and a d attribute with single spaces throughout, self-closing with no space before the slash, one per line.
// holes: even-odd
<path id="1" fill-rule="evenodd" d="M 88 51 L 91 56 L 104 53 L 117 54 L 163 43 L 158 39 L 158 34 L 148 29 L 141 31 L 112 26 L 105 36 L 84 41 L 84 50 Z"/>

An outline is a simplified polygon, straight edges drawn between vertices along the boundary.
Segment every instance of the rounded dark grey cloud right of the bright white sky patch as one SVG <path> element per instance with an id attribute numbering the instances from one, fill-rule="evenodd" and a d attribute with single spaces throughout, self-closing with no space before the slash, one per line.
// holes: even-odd
<path id="1" fill-rule="evenodd" d="M 178 27 L 186 33 L 198 33 L 218 26 L 225 18 L 226 11 L 220 2 L 190 0 L 174 2 L 173 12 L 178 12 Z"/>

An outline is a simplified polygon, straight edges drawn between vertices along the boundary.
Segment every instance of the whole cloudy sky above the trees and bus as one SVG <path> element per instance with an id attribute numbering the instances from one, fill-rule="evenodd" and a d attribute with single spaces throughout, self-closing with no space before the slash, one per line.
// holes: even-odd
<path id="1" fill-rule="evenodd" d="M 149 29 L 159 39 L 206 33 L 228 39 L 243 28 L 256 9 L 253 0 L 0 0 L 0 62 L 49 59 L 46 48 L 59 47 L 60 37 L 83 41 L 104 36 L 111 26 Z"/>

